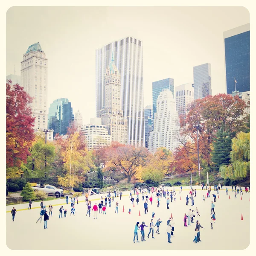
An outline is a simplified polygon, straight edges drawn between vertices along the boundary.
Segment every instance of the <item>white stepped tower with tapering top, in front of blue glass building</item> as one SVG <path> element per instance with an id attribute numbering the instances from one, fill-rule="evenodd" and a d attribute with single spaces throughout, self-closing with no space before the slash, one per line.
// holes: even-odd
<path id="1" fill-rule="evenodd" d="M 154 117 L 154 131 L 149 135 L 148 150 L 155 153 L 165 147 L 174 151 L 179 147 L 179 115 L 175 99 L 170 90 L 164 89 L 157 98 L 157 112 Z"/>

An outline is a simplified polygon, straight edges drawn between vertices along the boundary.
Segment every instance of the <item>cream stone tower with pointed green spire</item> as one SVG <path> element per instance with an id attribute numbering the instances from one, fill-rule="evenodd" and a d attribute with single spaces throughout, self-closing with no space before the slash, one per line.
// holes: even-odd
<path id="1" fill-rule="evenodd" d="M 111 64 L 105 73 L 105 102 L 99 117 L 106 125 L 111 141 L 127 145 L 127 120 L 121 106 L 121 76 L 112 55 Z"/>

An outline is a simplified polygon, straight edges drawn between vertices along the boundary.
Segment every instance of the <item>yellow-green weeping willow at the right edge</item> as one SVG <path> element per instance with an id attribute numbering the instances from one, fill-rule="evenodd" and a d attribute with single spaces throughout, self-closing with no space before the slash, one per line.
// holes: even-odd
<path id="1" fill-rule="evenodd" d="M 231 164 L 221 166 L 221 176 L 231 180 L 250 178 L 250 133 L 240 132 L 232 139 Z"/>

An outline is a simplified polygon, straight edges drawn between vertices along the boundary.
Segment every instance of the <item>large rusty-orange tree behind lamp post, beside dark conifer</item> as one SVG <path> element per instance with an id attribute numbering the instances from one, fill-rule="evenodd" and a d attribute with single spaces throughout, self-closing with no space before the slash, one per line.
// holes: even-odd
<path id="1" fill-rule="evenodd" d="M 190 106 L 186 119 L 180 118 L 181 136 L 188 137 L 192 142 L 189 147 L 191 154 L 197 154 L 197 126 L 199 135 L 199 153 L 208 165 L 211 163 L 211 145 L 218 130 L 229 132 L 231 138 L 244 130 L 246 104 L 239 96 L 227 94 L 207 96 L 197 99 Z M 181 141 L 182 142 L 182 141 Z"/>

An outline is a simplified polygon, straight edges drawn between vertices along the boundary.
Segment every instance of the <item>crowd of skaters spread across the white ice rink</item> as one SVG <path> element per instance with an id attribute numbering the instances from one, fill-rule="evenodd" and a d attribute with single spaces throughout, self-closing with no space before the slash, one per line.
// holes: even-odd
<path id="1" fill-rule="evenodd" d="M 222 189 L 222 184 L 218 184 L 218 186 L 214 185 L 214 191 L 220 190 L 220 188 Z M 207 189 L 207 183 L 204 185 L 204 183 L 202 183 L 202 190 L 204 189 L 204 187 Z M 160 198 L 164 198 L 166 200 L 166 208 L 169 209 L 169 204 L 172 202 L 175 202 L 175 197 L 176 197 L 176 192 L 175 192 L 175 188 L 173 187 L 172 190 L 168 190 L 168 189 L 164 189 L 161 186 L 159 188 L 147 188 L 147 189 L 136 189 L 134 188 L 134 196 L 136 195 L 136 202 L 137 204 L 139 204 L 139 195 L 141 194 L 142 196 L 142 201 L 143 201 L 143 205 L 144 205 L 144 209 L 145 209 L 145 214 L 148 213 L 148 204 L 150 202 L 150 204 L 152 204 L 153 202 L 153 197 L 154 197 L 154 193 L 155 196 L 157 198 L 157 207 L 160 206 Z M 226 188 L 227 191 L 227 188 Z M 236 194 L 240 194 L 243 195 L 243 191 L 241 189 L 240 186 L 232 186 L 232 191 L 235 192 Z M 249 191 L 250 191 L 250 186 L 249 186 Z M 245 192 L 249 192 L 248 188 L 245 187 Z M 180 190 L 179 193 L 182 192 L 182 186 L 180 186 Z M 210 193 L 211 193 L 211 186 L 208 186 L 208 192 L 207 192 L 207 197 L 210 197 Z M 89 193 L 85 194 L 85 201 L 87 204 L 87 214 L 88 217 L 90 217 L 90 213 L 91 211 L 93 212 L 93 218 L 97 219 L 98 216 L 98 212 L 99 214 L 103 214 L 106 215 L 106 209 L 107 207 L 111 208 L 111 202 L 114 203 L 115 206 L 115 213 L 118 214 L 118 208 L 119 208 L 119 202 L 115 201 L 116 197 L 120 198 L 120 200 L 122 200 L 122 192 L 120 192 L 119 190 L 115 190 L 113 192 L 113 195 L 111 197 L 111 192 L 108 192 L 107 196 L 105 196 L 105 198 L 101 197 L 101 201 L 100 203 L 95 203 L 92 207 L 92 202 L 90 200 L 88 200 L 90 191 Z M 129 198 L 131 200 L 131 204 L 134 204 L 134 197 L 132 195 L 132 190 L 129 193 Z M 149 197 L 150 195 L 150 197 Z M 214 202 L 216 201 L 216 195 L 212 194 L 214 201 L 211 202 L 211 218 L 210 218 L 210 224 L 211 224 L 211 229 L 213 229 L 213 222 L 215 222 L 215 204 Z M 196 197 L 196 189 L 193 189 L 192 186 L 190 186 L 190 191 L 189 191 L 189 195 L 186 196 L 186 205 L 188 205 L 189 199 L 191 199 L 191 206 L 194 206 L 194 198 Z M 111 199 L 112 198 L 112 199 Z M 170 200 L 171 198 L 171 200 Z M 148 202 L 149 201 L 149 202 Z M 205 201 L 205 198 L 203 197 L 203 201 Z M 69 204 L 69 196 L 66 195 L 66 203 Z M 71 210 L 70 210 L 70 215 L 75 215 L 76 209 L 75 209 L 75 204 L 79 204 L 79 199 L 78 197 L 72 197 L 70 198 L 70 206 L 71 206 Z M 32 206 L 32 200 L 29 200 L 29 209 L 31 209 Z M 52 216 L 52 211 L 53 211 L 53 207 L 52 205 L 49 205 L 49 212 L 46 210 L 46 206 L 44 205 L 44 201 L 42 200 L 40 203 L 40 217 L 38 218 L 38 220 L 36 221 L 36 223 L 40 220 L 40 222 L 42 221 L 42 218 L 44 218 L 44 229 L 47 229 L 47 221 L 49 220 L 49 216 Z M 65 207 L 67 208 L 67 207 Z M 103 211 L 103 213 L 102 213 Z M 130 213 L 131 209 L 129 209 L 129 213 Z M 14 221 L 15 219 L 15 214 L 16 214 L 16 209 L 15 207 L 13 207 L 11 213 L 12 213 L 12 220 Z M 59 209 L 59 218 L 63 218 L 62 213 L 64 213 L 64 218 L 66 218 L 67 216 L 67 209 L 64 209 L 64 206 L 61 206 Z M 191 208 L 189 209 L 188 212 L 186 212 L 184 214 L 184 227 L 188 227 L 191 226 L 191 223 L 194 223 L 194 217 L 196 216 L 200 216 L 199 214 L 199 210 L 198 207 L 195 208 L 195 210 L 192 210 Z M 158 220 L 156 221 L 156 223 L 154 224 L 154 215 L 155 213 L 152 212 L 152 219 L 150 221 L 150 223 L 148 225 L 145 224 L 145 222 L 143 221 L 141 225 L 140 222 L 137 222 L 134 228 L 134 243 L 135 243 L 135 238 L 137 238 L 137 242 L 140 242 L 138 239 L 138 230 L 140 230 L 141 233 L 141 241 L 146 241 L 145 240 L 145 227 L 149 228 L 149 233 L 147 238 L 149 239 L 149 236 L 152 234 L 152 239 L 154 239 L 154 227 L 157 228 L 156 232 L 158 235 L 160 235 L 160 225 L 163 221 L 161 221 L 160 218 L 158 218 Z M 188 222 L 188 224 L 187 224 Z M 174 236 L 174 225 L 175 222 L 173 220 L 173 218 L 169 218 L 169 220 L 167 221 L 167 228 L 166 228 L 166 234 L 167 234 L 167 240 L 168 243 L 172 243 L 171 242 L 171 236 Z M 195 238 L 193 240 L 193 242 L 198 243 L 201 241 L 200 239 L 200 228 L 203 228 L 201 226 L 201 224 L 199 223 L 199 221 L 196 221 L 196 226 L 195 226 Z"/>

